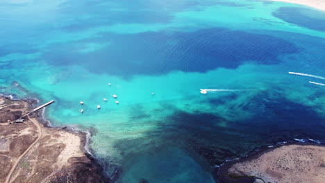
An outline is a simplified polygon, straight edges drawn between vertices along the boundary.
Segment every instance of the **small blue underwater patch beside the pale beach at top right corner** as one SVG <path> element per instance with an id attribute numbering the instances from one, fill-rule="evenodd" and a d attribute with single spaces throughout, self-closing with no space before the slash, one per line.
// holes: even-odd
<path id="1" fill-rule="evenodd" d="M 309 8 L 281 7 L 273 12 L 273 16 L 290 24 L 325 31 L 325 12 L 322 11 Z"/>

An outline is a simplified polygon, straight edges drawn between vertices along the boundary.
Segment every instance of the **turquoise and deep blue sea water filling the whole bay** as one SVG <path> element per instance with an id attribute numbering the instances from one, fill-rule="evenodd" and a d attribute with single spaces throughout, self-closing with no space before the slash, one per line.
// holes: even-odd
<path id="1" fill-rule="evenodd" d="M 117 182 L 218 182 L 226 159 L 294 139 L 324 143 L 325 87 L 311 83 L 325 83 L 324 11 L 9 0 L 0 25 L 0 93 L 55 100 L 47 119 L 92 132 L 91 153 L 108 174 L 122 170 Z"/>

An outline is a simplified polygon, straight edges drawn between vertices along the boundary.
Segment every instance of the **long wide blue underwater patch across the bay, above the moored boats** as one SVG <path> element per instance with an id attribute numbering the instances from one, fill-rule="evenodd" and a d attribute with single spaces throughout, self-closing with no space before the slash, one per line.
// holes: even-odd
<path id="1" fill-rule="evenodd" d="M 88 42 L 109 45 L 81 53 L 81 45 Z M 130 78 L 170 71 L 204 73 L 219 67 L 235 69 L 246 61 L 278 64 L 279 55 L 299 51 L 294 44 L 277 37 L 210 28 L 190 33 L 103 34 L 92 40 L 55 44 L 47 49 L 44 60 L 56 66 L 81 64 L 94 73 Z"/>

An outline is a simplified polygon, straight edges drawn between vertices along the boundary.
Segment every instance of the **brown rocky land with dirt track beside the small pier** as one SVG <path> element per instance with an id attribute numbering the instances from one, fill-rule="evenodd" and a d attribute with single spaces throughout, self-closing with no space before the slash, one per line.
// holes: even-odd
<path id="1" fill-rule="evenodd" d="M 84 134 L 45 128 L 37 114 L 9 123 L 28 110 L 28 101 L 0 98 L 0 183 L 110 182 L 84 152 Z"/>

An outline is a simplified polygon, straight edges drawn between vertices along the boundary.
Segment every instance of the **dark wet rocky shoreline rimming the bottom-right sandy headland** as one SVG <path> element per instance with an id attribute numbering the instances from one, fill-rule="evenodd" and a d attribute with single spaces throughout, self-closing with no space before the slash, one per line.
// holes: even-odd
<path id="1" fill-rule="evenodd" d="M 256 161 L 256 159 L 259 159 L 264 155 L 272 153 L 274 150 L 278 150 L 280 148 L 288 148 L 290 146 L 299 146 L 299 147 L 313 146 L 313 147 L 325 148 L 324 143 L 316 143 L 313 141 L 308 141 L 308 142 L 290 141 L 287 143 L 277 143 L 274 146 L 263 146 L 261 148 L 258 148 L 258 150 L 255 150 L 255 152 L 249 153 L 248 155 L 244 155 L 242 157 L 238 157 L 235 159 L 226 160 L 224 164 L 219 166 L 219 169 L 217 171 L 218 180 L 222 183 L 253 183 L 256 180 L 260 180 L 260 182 L 265 182 L 260 177 L 253 176 L 253 175 L 246 175 L 242 171 L 240 171 L 240 173 L 244 175 L 238 175 L 233 172 L 230 173 L 229 170 L 233 168 L 235 165 L 245 164 L 247 162 L 254 162 Z"/>

